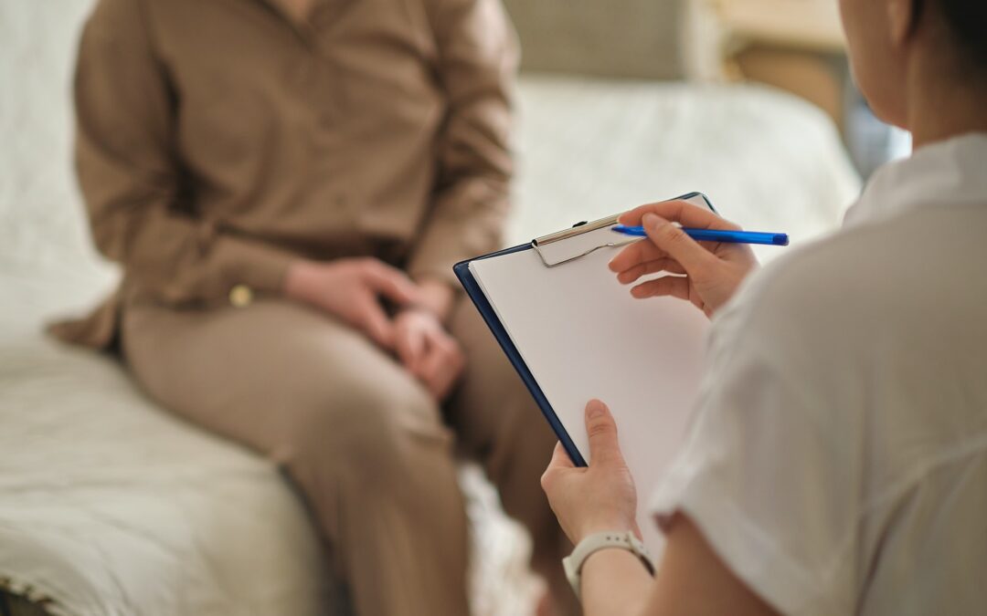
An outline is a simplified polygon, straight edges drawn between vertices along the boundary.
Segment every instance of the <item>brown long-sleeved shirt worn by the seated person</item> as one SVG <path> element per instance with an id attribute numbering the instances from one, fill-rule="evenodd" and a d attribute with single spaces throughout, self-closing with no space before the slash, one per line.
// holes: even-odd
<path id="1" fill-rule="evenodd" d="M 276 294 L 288 262 L 372 255 L 450 279 L 506 214 L 514 34 L 499 0 L 101 0 L 77 168 L 121 293 L 56 326 L 113 338 L 121 296 Z"/>

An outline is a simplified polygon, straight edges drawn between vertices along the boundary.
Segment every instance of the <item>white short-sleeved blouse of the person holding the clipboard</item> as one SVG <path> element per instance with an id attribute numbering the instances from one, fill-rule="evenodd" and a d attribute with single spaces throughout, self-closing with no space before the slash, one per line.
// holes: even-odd
<path id="1" fill-rule="evenodd" d="M 650 506 L 786 614 L 987 613 L 987 134 L 744 283 Z"/>

